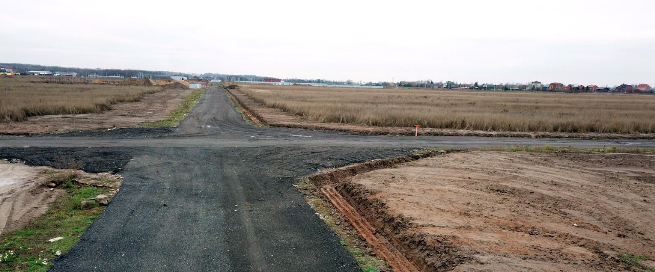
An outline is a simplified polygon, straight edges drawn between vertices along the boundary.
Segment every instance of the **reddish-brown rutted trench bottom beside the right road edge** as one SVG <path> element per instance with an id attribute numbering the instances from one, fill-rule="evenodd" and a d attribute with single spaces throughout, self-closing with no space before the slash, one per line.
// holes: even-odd
<path id="1" fill-rule="evenodd" d="M 409 262 L 401 252 L 397 250 L 392 250 L 389 247 L 386 247 L 385 244 L 388 244 L 388 241 L 379 235 L 375 235 L 375 228 L 367 222 L 364 217 L 362 217 L 357 211 L 348 204 L 348 201 L 344 199 L 339 192 L 333 187 L 321 188 L 321 192 L 327 197 L 327 199 L 337 208 L 341 213 L 343 213 L 350 221 L 350 224 L 357 230 L 362 237 L 366 240 L 375 254 L 383 258 L 383 260 L 396 272 L 410 272 L 410 271 L 419 271 L 419 269 L 412 262 Z"/>

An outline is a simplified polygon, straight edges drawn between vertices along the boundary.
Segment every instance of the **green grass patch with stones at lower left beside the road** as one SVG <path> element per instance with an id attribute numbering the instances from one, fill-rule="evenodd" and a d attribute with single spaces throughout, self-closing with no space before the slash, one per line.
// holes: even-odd
<path id="1" fill-rule="evenodd" d="M 46 271 L 57 251 L 67 252 L 82 236 L 96 217 L 105 210 L 95 201 L 92 207 L 81 209 L 80 202 L 108 188 L 70 186 L 67 194 L 52 203 L 48 211 L 29 222 L 22 230 L 4 233 L 0 237 L 0 271 Z M 64 239 L 48 242 L 55 237 Z"/>

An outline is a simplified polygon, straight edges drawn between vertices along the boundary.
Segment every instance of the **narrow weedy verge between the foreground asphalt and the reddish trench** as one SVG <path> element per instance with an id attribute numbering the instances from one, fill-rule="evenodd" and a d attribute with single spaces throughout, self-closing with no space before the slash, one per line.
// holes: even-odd
<path id="1" fill-rule="evenodd" d="M 360 238 L 359 233 L 346 222 L 346 216 L 334 209 L 326 199 L 319 197 L 318 188 L 309 179 L 296 182 L 295 187 L 305 196 L 305 201 L 310 207 L 316 213 L 323 215 L 325 218 L 323 222 L 341 238 L 339 245 L 345 247 L 352 254 L 363 271 L 391 271 L 391 268 L 384 260 L 372 254 L 373 250 L 368 248 L 365 241 Z"/>

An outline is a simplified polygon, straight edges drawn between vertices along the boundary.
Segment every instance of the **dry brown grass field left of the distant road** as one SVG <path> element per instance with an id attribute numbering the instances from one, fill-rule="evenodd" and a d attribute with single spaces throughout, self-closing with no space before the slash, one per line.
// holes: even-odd
<path id="1" fill-rule="evenodd" d="M 161 90 L 160 86 L 45 83 L 27 76 L 0 78 L 0 122 L 102 112 L 115 103 L 139 101 L 143 95 Z"/>

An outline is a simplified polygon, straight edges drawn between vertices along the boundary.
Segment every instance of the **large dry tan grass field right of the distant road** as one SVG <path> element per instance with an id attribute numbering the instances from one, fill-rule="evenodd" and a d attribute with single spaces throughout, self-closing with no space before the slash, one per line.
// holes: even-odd
<path id="1" fill-rule="evenodd" d="M 240 85 L 268 107 L 361 126 L 654 133 L 655 95 Z"/>

